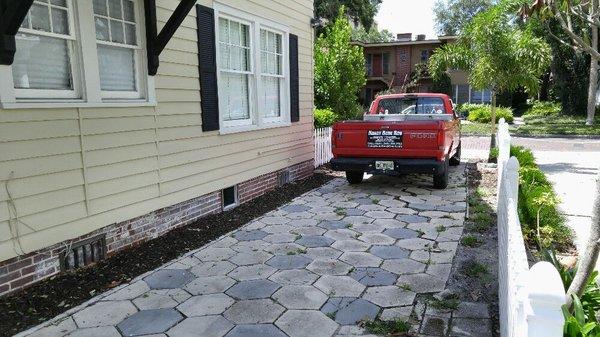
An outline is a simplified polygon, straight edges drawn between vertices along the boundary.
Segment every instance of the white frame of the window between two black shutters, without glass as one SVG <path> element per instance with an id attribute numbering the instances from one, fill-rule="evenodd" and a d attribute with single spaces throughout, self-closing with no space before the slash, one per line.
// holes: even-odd
<path id="1" fill-rule="evenodd" d="M 257 14 L 250 14 L 242 10 L 223 5 L 221 3 L 214 3 L 213 9 L 215 11 L 215 49 L 216 49 L 216 60 L 217 60 L 217 83 L 221 83 L 221 66 L 220 66 L 220 48 L 219 48 L 219 18 L 227 20 L 233 20 L 248 24 L 250 26 L 250 90 L 249 95 L 249 106 L 250 106 L 250 119 L 240 121 L 225 121 L 223 114 L 219 114 L 219 132 L 221 134 L 260 130 L 274 127 L 284 127 L 291 125 L 290 118 L 290 68 L 289 68 L 289 27 L 273 22 L 267 18 L 261 17 Z M 264 102 L 261 99 L 261 93 L 264 88 L 262 87 L 262 64 L 261 64 L 261 48 L 260 48 L 260 30 L 264 29 L 277 34 L 282 35 L 282 67 L 283 67 L 283 81 L 281 90 L 281 115 L 280 117 L 266 117 L 264 116 Z M 245 72 L 244 72 L 245 73 Z M 224 111 L 222 108 L 223 101 L 219 99 L 219 110 Z"/>

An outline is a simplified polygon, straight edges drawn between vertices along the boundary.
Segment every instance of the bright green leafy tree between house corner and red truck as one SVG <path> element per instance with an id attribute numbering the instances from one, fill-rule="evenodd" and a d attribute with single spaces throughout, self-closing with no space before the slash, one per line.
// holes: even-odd
<path id="1" fill-rule="evenodd" d="M 352 28 L 344 7 L 315 44 L 315 105 L 331 109 L 338 119 L 360 113 L 358 92 L 366 83 L 365 57 L 351 42 Z"/>

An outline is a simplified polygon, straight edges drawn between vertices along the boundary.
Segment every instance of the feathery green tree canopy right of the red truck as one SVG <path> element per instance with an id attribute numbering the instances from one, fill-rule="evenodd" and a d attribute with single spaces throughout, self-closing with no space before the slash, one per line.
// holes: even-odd
<path id="1" fill-rule="evenodd" d="M 469 71 L 469 82 L 476 89 L 501 92 L 524 87 L 536 93 L 550 64 L 550 47 L 531 29 L 514 23 L 510 5 L 503 1 L 476 15 L 456 43 L 432 55 L 431 74 L 437 78 L 458 68 Z"/>

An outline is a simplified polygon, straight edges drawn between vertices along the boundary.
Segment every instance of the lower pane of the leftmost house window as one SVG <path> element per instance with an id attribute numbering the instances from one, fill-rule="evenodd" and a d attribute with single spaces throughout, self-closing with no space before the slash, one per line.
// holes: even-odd
<path id="1" fill-rule="evenodd" d="M 12 66 L 15 88 L 73 89 L 67 41 L 19 34 L 16 42 L 17 52 Z"/>

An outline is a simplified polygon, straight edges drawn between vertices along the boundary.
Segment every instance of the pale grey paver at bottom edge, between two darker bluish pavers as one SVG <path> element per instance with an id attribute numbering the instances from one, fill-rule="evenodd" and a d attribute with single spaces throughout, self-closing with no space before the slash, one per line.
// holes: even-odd
<path id="1" fill-rule="evenodd" d="M 223 316 L 206 316 L 186 318 L 167 331 L 169 337 L 223 337 L 233 324 Z"/>

